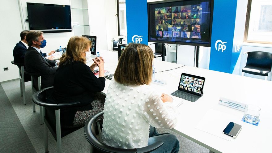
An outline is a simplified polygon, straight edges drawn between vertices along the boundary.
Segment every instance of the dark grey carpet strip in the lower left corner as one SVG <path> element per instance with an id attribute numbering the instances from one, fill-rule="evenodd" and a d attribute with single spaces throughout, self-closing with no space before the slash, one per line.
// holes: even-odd
<path id="1" fill-rule="evenodd" d="M 23 128 L 23 125 L 11 106 L 11 103 L 1 85 L 0 101 L 0 153 L 36 153 L 26 131 Z"/>

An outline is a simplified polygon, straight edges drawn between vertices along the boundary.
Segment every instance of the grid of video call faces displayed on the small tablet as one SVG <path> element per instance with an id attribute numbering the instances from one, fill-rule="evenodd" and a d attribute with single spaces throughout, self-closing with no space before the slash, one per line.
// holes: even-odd
<path id="1" fill-rule="evenodd" d="M 179 88 L 201 94 L 203 83 L 203 79 L 182 75 Z"/>

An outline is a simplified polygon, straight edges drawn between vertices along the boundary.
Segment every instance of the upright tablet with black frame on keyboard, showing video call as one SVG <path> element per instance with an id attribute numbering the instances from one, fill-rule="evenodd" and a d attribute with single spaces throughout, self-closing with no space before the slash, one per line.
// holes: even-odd
<path id="1" fill-rule="evenodd" d="M 191 74 L 181 74 L 178 89 L 201 96 L 205 78 Z"/>

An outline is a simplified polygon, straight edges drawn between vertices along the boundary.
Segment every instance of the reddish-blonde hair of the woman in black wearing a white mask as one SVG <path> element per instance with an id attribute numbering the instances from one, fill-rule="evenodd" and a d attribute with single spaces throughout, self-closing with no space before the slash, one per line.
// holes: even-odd
<path id="1" fill-rule="evenodd" d="M 88 38 L 82 36 L 72 36 L 67 44 L 65 54 L 60 57 L 59 64 L 62 65 L 70 58 L 73 58 L 74 61 L 85 63 L 86 58 L 81 54 L 88 47 L 91 47 L 91 41 Z"/>

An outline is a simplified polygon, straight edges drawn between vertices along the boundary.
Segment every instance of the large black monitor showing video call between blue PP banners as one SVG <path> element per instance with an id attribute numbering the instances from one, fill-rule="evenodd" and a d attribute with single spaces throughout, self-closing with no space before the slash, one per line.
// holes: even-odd
<path id="1" fill-rule="evenodd" d="M 147 3 L 148 41 L 210 47 L 213 0 Z"/>

